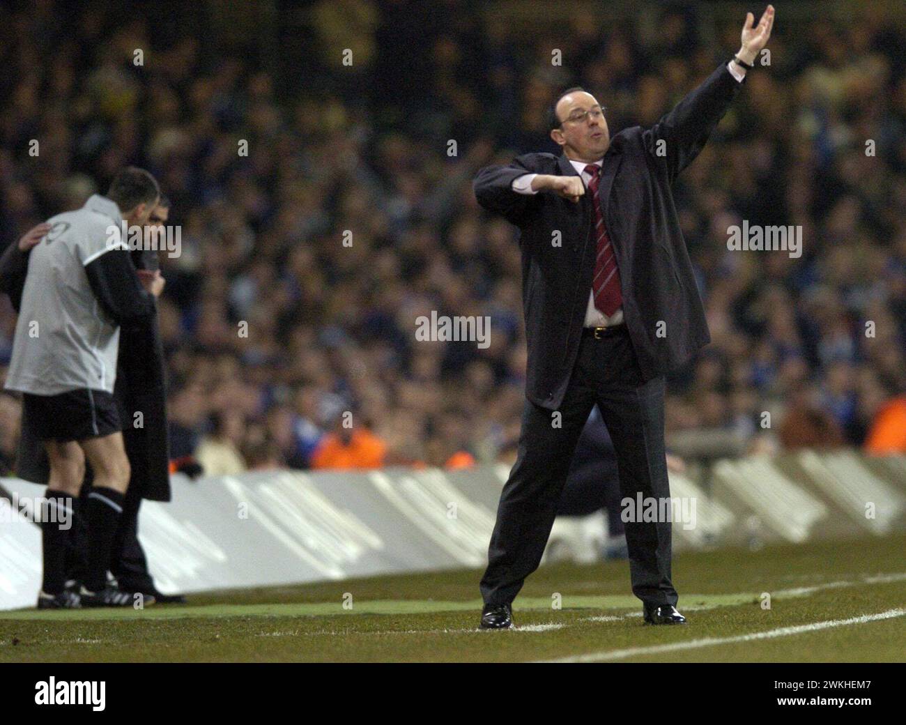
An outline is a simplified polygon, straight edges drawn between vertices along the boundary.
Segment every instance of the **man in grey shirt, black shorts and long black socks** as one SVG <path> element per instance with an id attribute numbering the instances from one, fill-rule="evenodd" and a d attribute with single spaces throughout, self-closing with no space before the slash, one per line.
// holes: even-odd
<path id="1" fill-rule="evenodd" d="M 78 595 L 64 591 L 66 532 L 43 521 L 44 572 L 39 607 L 128 606 L 128 594 L 106 587 L 111 542 L 129 486 L 130 464 L 113 400 L 120 324 L 153 314 L 163 289 L 159 271 L 139 275 L 124 233 L 143 226 L 160 196 L 143 169 L 123 169 L 106 197 L 48 219 L 31 251 L 24 284 L 10 296 L 19 310 L 5 388 L 23 405 L 50 463 L 49 507 L 72 508 L 94 474 L 87 518 L 89 573 Z M 50 509 L 48 509 L 50 513 Z"/>

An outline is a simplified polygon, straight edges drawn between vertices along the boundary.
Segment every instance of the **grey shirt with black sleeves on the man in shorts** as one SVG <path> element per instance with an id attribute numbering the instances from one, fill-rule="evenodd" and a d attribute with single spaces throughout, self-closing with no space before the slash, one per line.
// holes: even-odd
<path id="1" fill-rule="evenodd" d="M 29 255 L 5 388 L 112 392 L 120 323 L 153 309 L 122 239 L 120 208 L 94 195 L 47 223 Z"/>

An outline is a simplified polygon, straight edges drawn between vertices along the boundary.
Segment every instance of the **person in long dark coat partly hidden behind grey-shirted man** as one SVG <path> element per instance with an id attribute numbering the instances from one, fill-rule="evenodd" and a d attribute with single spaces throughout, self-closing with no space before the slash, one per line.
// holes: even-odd
<path id="1" fill-rule="evenodd" d="M 168 217 L 169 201 L 161 197 L 149 218 L 149 238 L 157 238 L 163 233 Z M 34 227 L 0 256 L 0 292 L 10 296 L 17 311 L 28 270 L 29 252 L 43 237 L 41 229 L 45 226 Z M 157 249 L 133 249 L 130 254 L 140 274 L 159 269 Z M 123 591 L 153 596 L 158 603 L 184 601 L 180 595 L 158 591 L 138 538 L 141 500 L 170 500 L 164 353 L 156 313 L 140 324 L 120 328 L 120 352 L 113 396 L 120 409 L 131 478 L 113 541 L 111 574 Z M 91 471 L 90 467 L 86 468 L 86 483 L 89 485 L 82 487 L 82 500 L 90 490 Z M 34 427 L 24 414 L 16 475 L 40 484 L 46 484 L 50 475 L 41 440 L 35 436 Z M 72 528 L 66 557 L 67 579 L 73 581 L 79 581 L 85 569 L 85 525 L 80 519 L 82 517 L 77 517 Z"/>

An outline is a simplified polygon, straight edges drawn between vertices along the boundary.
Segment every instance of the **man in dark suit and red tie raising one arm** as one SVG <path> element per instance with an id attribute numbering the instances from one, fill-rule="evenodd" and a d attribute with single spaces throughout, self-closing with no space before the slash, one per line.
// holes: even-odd
<path id="1" fill-rule="evenodd" d="M 611 140 L 582 89 L 551 111 L 563 148 L 482 169 L 475 194 L 520 231 L 528 345 L 516 464 L 500 497 L 481 580 L 481 626 L 513 623 L 511 604 L 544 554 L 576 441 L 597 403 L 623 497 L 670 498 L 664 374 L 710 341 L 671 187 L 708 140 L 774 22 L 747 14 L 742 47 L 651 129 Z M 629 521 L 632 592 L 646 623 L 685 623 L 670 579 L 670 521 Z"/>

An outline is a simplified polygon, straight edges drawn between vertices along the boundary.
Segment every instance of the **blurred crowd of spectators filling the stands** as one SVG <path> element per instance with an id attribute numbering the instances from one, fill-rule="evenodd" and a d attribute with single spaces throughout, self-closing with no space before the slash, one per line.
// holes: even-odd
<path id="1" fill-rule="evenodd" d="M 65 22 L 52 2 L 0 10 L 0 246 L 124 165 L 157 176 L 181 230 L 159 304 L 172 456 L 208 472 L 513 459 L 516 229 L 477 206 L 477 169 L 556 151 L 544 111 L 567 86 L 597 95 L 612 135 L 651 125 L 728 60 L 742 22 L 651 4 L 611 24 L 571 5 L 517 32 L 475 3 L 326 0 L 304 5 L 311 82 L 290 88 L 293 69 L 254 48 L 64 5 Z M 670 376 L 669 434 L 902 445 L 904 45 L 871 6 L 845 24 L 779 17 L 770 66 L 680 176 L 713 342 Z M 728 251 L 742 219 L 801 226 L 803 255 Z M 487 349 L 417 341 L 432 310 L 490 316 Z M 0 396 L 6 469 L 17 417 Z"/>

